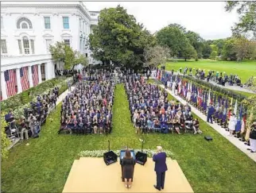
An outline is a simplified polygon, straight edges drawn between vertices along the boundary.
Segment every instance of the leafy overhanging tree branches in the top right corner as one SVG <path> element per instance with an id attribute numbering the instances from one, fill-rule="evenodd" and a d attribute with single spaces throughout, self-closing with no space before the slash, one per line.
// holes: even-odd
<path id="1" fill-rule="evenodd" d="M 235 23 L 235 26 L 232 28 L 235 35 L 241 33 L 250 33 L 254 34 L 256 38 L 256 2 L 226 2 L 225 6 L 226 11 L 231 12 L 232 10 L 237 11 L 240 15 L 239 23 Z"/>

